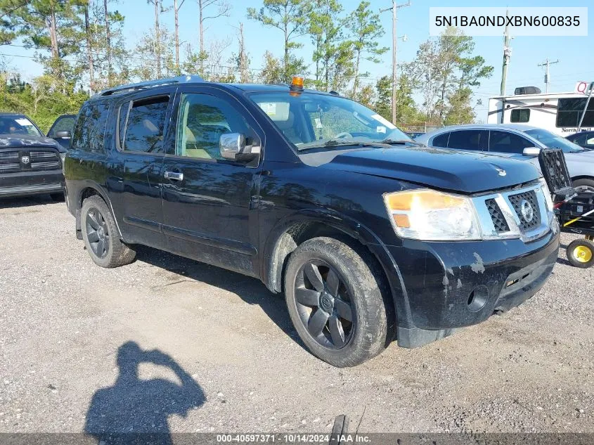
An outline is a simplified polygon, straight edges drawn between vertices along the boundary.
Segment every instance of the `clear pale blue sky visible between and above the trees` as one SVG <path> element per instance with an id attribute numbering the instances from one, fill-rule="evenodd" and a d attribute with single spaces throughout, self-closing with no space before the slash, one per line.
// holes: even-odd
<path id="1" fill-rule="evenodd" d="M 360 0 L 342 0 L 341 4 L 345 13 L 353 11 Z M 237 51 L 237 27 L 243 22 L 245 44 L 250 56 L 250 67 L 262 67 L 262 60 L 266 50 L 276 56 L 283 54 L 283 34 L 275 28 L 263 27 L 252 20 L 247 20 L 248 7 L 260 8 L 262 0 L 228 0 L 231 4 L 231 13 L 228 17 L 217 18 L 205 22 L 205 39 L 231 39 L 228 47 L 228 56 Z M 374 11 L 391 6 L 391 0 L 370 0 Z M 404 3 L 404 1 L 399 1 Z M 164 6 L 170 6 L 173 0 L 164 0 Z M 592 0 L 570 1 L 566 6 L 592 6 Z M 483 0 L 411 0 L 411 6 L 399 8 L 397 34 L 406 34 L 406 41 L 398 42 L 398 63 L 413 60 L 419 45 L 429 38 L 429 8 L 430 6 L 560 6 L 560 2 L 553 0 L 541 1 L 510 1 L 502 4 L 501 1 Z M 153 26 L 153 6 L 146 0 L 118 0 L 112 3 L 112 9 L 117 9 L 125 17 L 124 36 L 134 46 L 135 41 L 141 37 L 145 30 Z M 589 8 L 592 13 L 594 8 Z M 380 46 L 392 47 L 392 14 L 388 11 L 381 14 L 382 25 L 386 34 L 380 39 Z M 162 14 L 162 24 L 173 30 L 174 16 L 169 11 Z M 512 57 L 508 67 L 507 93 L 513 93 L 517 86 L 538 86 L 543 91 L 544 69 L 538 67 L 546 58 L 559 60 L 559 63 L 550 65 L 550 92 L 573 91 L 576 82 L 581 80 L 594 81 L 594 20 L 588 20 L 588 37 L 517 37 L 512 39 Z M 198 47 L 198 4 L 197 0 L 185 0 L 181 7 L 180 40 L 188 41 Z M 307 37 L 299 39 L 303 47 L 297 49 L 297 56 L 303 57 L 306 62 L 311 61 L 312 46 Z M 476 43 L 475 53 L 483 56 L 488 65 L 495 67 L 493 76 L 484 79 L 475 89 L 474 99 L 481 99 L 482 105 L 477 105 L 475 112 L 477 119 L 486 120 L 486 107 L 488 98 L 499 93 L 501 83 L 501 64 L 503 59 L 502 37 L 474 37 Z M 182 51 L 183 53 L 183 51 Z M 16 46 L 0 46 L 0 54 L 8 54 L 4 59 L 14 70 L 21 72 L 25 79 L 30 79 L 41 73 L 41 67 L 34 62 L 34 51 Z M 228 58 L 225 57 L 225 60 Z M 1 56 L 0 56 L 1 57 Z M 390 75 L 392 70 L 392 53 L 388 51 L 382 56 L 381 63 L 364 63 L 363 71 L 368 72 L 368 77 L 362 79 L 363 84 L 375 84 L 377 78 Z"/>

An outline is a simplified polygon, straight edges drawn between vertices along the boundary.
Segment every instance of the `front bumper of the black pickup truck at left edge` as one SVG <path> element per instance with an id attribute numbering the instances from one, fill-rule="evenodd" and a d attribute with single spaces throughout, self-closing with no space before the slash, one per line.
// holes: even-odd
<path id="1" fill-rule="evenodd" d="M 60 193 L 64 191 L 61 169 L 25 171 L 0 175 L 0 198 Z"/>

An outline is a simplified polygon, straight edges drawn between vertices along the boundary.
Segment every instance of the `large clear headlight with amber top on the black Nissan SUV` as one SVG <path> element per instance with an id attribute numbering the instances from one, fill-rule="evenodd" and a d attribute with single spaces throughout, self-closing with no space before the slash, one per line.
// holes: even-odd
<path id="1" fill-rule="evenodd" d="M 385 193 L 384 202 L 401 238 L 426 241 L 480 240 L 470 198 L 433 190 Z"/>

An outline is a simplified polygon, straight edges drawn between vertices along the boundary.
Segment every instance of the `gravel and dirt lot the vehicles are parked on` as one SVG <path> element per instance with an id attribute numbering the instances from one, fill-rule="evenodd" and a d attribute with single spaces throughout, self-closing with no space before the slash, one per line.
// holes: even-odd
<path id="1" fill-rule="evenodd" d="M 337 369 L 259 281 L 148 248 L 101 269 L 63 203 L 5 200 L 0 431 L 594 432 L 594 269 L 563 255 L 522 307 Z"/>

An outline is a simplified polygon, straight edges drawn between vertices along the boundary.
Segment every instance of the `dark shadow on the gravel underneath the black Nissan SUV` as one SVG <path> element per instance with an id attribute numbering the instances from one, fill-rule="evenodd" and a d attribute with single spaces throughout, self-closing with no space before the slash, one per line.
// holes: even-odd
<path id="1" fill-rule="evenodd" d="M 274 295 L 262 281 L 152 247 L 138 246 L 136 260 L 233 292 L 247 304 L 258 304 L 285 334 L 304 347 L 293 328 L 283 295 Z"/>

